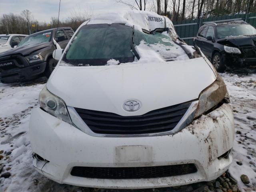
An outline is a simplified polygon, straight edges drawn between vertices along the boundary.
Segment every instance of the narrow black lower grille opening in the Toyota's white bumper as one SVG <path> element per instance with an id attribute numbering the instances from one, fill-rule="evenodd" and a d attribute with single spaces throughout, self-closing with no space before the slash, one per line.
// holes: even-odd
<path id="1" fill-rule="evenodd" d="M 73 167 L 72 176 L 95 179 L 142 179 L 179 176 L 197 172 L 194 164 L 154 167 Z"/>

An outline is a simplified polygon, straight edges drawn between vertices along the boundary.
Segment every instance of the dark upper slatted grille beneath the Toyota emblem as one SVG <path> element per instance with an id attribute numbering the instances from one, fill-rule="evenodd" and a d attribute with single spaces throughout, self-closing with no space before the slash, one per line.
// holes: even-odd
<path id="1" fill-rule="evenodd" d="M 148 134 L 172 130 L 188 110 L 191 102 L 150 111 L 140 116 L 120 116 L 75 108 L 87 126 L 98 134 Z"/>

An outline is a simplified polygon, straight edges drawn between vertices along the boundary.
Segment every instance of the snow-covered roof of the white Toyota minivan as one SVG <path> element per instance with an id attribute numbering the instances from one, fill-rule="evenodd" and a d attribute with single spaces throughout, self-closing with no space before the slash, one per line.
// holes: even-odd
<path id="1" fill-rule="evenodd" d="M 112 24 L 120 23 L 126 26 L 134 26 L 137 30 L 152 31 L 156 28 L 169 28 L 173 39 L 178 36 L 174 30 L 172 21 L 166 16 L 160 16 L 154 12 L 132 10 L 123 13 L 105 13 L 93 17 L 85 24 Z"/>

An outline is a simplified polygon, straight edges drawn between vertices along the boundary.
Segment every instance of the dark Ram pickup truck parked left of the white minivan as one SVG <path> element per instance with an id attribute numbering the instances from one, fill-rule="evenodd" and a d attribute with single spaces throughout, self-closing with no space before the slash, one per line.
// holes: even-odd
<path id="1" fill-rule="evenodd" d="M 43 73 L 49 77 L 57 64 L 52 52 L 56 48 L 64 49 L 73 34 L 72 28 L 63 27 L 26 36 L 17 48 L 0 53 L 0 81 L 31 80 Z"/>

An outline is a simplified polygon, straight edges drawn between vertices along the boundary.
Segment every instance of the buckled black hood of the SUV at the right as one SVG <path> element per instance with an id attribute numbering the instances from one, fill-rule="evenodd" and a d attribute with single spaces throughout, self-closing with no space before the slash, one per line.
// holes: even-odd
<path id="1" fill-rule="evenodd" d="M 252 47 L 256 46 L 256 36 L 229 37 L 217 41 L 219 44 L 232 47 Z"/>

